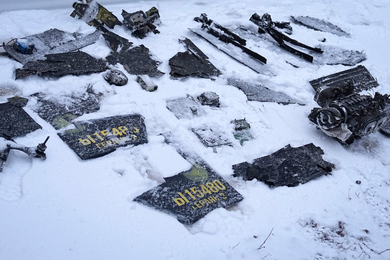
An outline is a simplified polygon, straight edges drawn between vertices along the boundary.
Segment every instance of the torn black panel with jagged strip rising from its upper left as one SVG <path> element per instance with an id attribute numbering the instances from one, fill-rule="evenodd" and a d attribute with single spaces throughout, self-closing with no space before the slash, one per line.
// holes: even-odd
<path id="1" fill-rule="evenodd" d="M 143 44 L 132 47 L 133 42 L 113 32 L 103 32 L 103 37 L 113 50 L 111 55 L 106 57 L 110 64 L 120 63 L 128 73 L 133 75 L 161 76 L 165 74 L 157 69 L 161 62 Z"/>

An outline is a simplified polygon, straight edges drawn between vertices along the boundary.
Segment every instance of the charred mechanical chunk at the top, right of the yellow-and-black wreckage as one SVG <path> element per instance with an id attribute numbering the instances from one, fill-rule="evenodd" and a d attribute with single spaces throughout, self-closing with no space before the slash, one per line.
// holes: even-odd
<path id="1" fill-rule="evenodd" d="M 161 23 L 160 14 L 156 7 L 152 7 L 146 14 L 143 11 L 128 13 L 122 10 L 123 24 L 137 38 L 144 38 L 148 32 L 159 34 L 156 25 Z M 156 25 L 155 25 L 156 24 Z"/>

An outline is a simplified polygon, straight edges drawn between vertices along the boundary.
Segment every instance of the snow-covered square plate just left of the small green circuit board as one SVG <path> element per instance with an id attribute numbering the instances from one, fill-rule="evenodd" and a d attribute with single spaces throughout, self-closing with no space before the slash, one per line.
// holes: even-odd
<path id="1" fill-rule="evenodd" d="M 229 137 L 221 131 L 213 131 L 213 129 L 206 126 L 196 129 L 193 128 L 192 131 L 198 136 L 204 146 L 213 148 L 213 152 L 217 152 L 216 147 L 221 147 L 223 145 L 232 146 Z"/>

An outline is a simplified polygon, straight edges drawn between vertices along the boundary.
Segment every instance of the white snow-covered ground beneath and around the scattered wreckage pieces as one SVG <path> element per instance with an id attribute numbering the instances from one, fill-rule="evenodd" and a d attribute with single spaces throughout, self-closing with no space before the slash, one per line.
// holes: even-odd
<path id="1" fill-rule="evenodd" d="M 73 1 L 66 5 L 59 0 L 18 1 L 17 8 L 11 1 L 1 2 L 0 11 L 4 12 L 0 13 L 0 42 L 50 28 L 94 31 L 84 21 L 69 16 Z M 52 9 L 53 3 L 61 9 Z M 362 65 L 379 82 L 374 92 L 385 94 L 390 93 L 389 0 L 167 0 L 101 4 L 119 18 L 122 9 L 159 9 L 160 34 L 149 34 L 140 40 L 124 27 L 113 30 L 134 45 L 144 44 L 163 61 L 159 69 L 166 74 L 153 79 L 159 86 L 157 91 L 142 90 L 135 82 L 136 76 L 128 73 L 129 83 L 123 87 L 110 86 L 103 80 L 105 73 L 58 79 L 33 75 L 14 80 L 15 69 L 22 65 L 0 56 L 0 102 L 35 92 L 58 96 L 91 84 L 104 97 L 99 111 L 81 119 L 140 113 L 145 117 L 149 143 L 82 161 L 50 124 L 26 108 L 43 129 L 16 141 L 34 146 L 50 135 L 48 158 L 41 161 L 12 151 L 0 173 L 0 259 L 390 259 L 390 250 L 378 254 L 390 249 L 390 139 L 375 133 L 342 147 L 307 119 L 310 110 L 317 107 L 308 81 L 349 67 L 318 67 L 298 60 L 302 67 L 294 68 L 284 58 L 296 58 L 258 49 L 277 72 L 270 78 L 255 73 L 187 29 L 200 27 L 193 18 L 203 12 L 232 29 L 239 25 L 255 28 L 249 21 L 254 12 L 268 12 L 274 21 L 289 21 L 290 15 L 327 19 L 351 33 L 351 38 L 295 24 L 292 37 L 310 46 L 326 38 L 324 44 L 364 50 L 367 60 Z M 51 9 L 35 10 L 46 8 Z M 8 11 L 15 9 L 19 10 Z M 220 69 L 223 74 L 216 81 L 170 79 L 168 60 L 185 50 L 177 41 L 181 37 L 191 39 Z M 110 53 L 102 36 L 82 51 L 100 58 Z M 119 68 L 124 71 L 121 65 Z M 227 85 L 227 78 L 262 84 L 307 105 L 246 102 L 243 92 Z M 216 92 L 221 103 L 218 110 L 206 109 L 205 117 L 178 120 L 166 108 L 167 101 L 186 94 L 199 96 L 205 91 Z M 190 131 L 207 124 L 230 134 L 230 121 L 244 117 L 255 139 L 242 147 L 235 140 L 233 147 L 218 148 L 213 153 Z M 158 136 L 165 131 L 178 133 L 179 141 L 198 153 L 244 200 L 230 209 L 216 209 L 191 226 L 133 202 L 136 196 L 160 184 L 162 177 L 188 168 L 187 162 Z M 287 144 L 298 147 L 307 143 L 320 146 L 324 159 L 337 166 L 332 175 L 297 187 L 275 189 L 231 176 L 233 164 L 266 156 Z M 362 183 L 358 185 L 356 180 Z"/>

